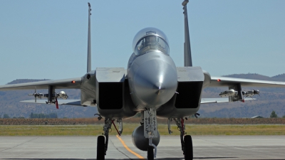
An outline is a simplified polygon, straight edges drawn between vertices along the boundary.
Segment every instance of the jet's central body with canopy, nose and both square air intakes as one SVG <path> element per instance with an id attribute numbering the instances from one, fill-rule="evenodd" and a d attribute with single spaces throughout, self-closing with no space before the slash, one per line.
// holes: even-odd
<path id="1" fill-rule="evenodd" d="M 162 118 L 187 117 L 199 110 L 204 84 L 201 68 L 176 67 L 162 31 L 144 28 L 133 40 L 127 70 L 97 68 L 83 76 L 81 105 L 97 105 L 105 118 L 129 118 L 150 108 Z"/>

